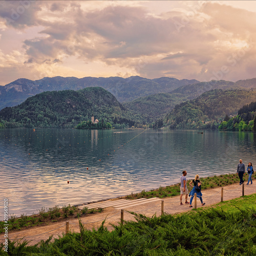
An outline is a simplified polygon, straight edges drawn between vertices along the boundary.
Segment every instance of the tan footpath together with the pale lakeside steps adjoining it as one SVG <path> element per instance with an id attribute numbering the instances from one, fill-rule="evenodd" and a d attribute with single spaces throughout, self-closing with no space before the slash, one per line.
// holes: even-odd
<path id="1" fill-rule="evenodd" d="M 242 188 L 239 184 L 232 184 L 224 187 L 224 201 L 238 198 L 242 196 Z M 256 193 L 256 184 L 244 185 L 244 194 L 251 195 Z M 202 190 L 203 201 L 206 203 L 205 206 L 201 206 L 200 200 L 197 198 L 197 206 L 207 207 L 212 204 L 219 203 L 221 201 L 221 187 Z M 183 196 L 183 203 L 185 203 Z M 189 211 L 193 208 L 189 208 L 189 204 L 180 205 L 180 197 L 173 198 L 164 198 L 164 199 L 138 199 L 138 200 L 124 200 L 124 199 L 111 199 L 104 202 L 88 204 L 90 208 L 92 207 L 102 207 L 104 208 L 103 212 L 100 214 L 93 214 L 87 217 L 81 218 L 82 223 L 87 229 L 97 228 L 100 226 L 101 222 L 106 218 L 104 226 L 108 227 L 109 230 L 113 230 L 113 227 L 110 225 L 120 223 L 121 218 L 121 209 L 124 209 L 124 220 L 132 221 L 134 216 L 127 211 L 135 211 L 138 214 L 143 214 L 147 217 L 152 217 L 161 215 L 161 201 L 164 201 L 164 212 L 167 214 L 178 214 L 179 212 Z M 188 198 L 189 201 L 189 198 Z M 193 200 L 193 206 L 194 205 Z M 84 206 L 84 205 L 83 205 Z M 81 208 L 83 207 L 81 206 Z M 70 222 L 70 230 L 79 232 L 78 220 L 73 219 Z M 29 245 L 38 243 L 41 240 L 47 240 L 51 234 L 54 238 L 61 236 L 65 232 L 66 221 L 52 224 L 45 227 L 35 227 L 18 232 L 9 232 L 8 238 L 25 238 L 25 240 L 30 241 Z M 0 239 L 4 238 L 4 234 L 0 235 Z M 3 242 L 4 240 L 0 240 Z"/>

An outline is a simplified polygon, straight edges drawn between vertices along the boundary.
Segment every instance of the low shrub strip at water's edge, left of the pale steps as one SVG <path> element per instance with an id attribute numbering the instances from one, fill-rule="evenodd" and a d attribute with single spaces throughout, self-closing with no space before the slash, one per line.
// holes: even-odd
<path id="1" fill-rule="evenodd" d="M 27 216 L 25 214 L 20 217 L 11 215 L 8 221 L 8 230 L 20 230 L 24 228 L 30 228 L 34 226 L 45 226 L 53 222 L 65 221 L 70 218 L 84 217 L 90 214 L 95 214 L 96 212 L 102 212 L 102 208 L 97 209 L 88 209 L 87 206 L 84 206 L 82 209 L 79 209 L 76 206 L 62 206 L 61 208 L 56 205 L 53 208 L 45 208 L 37 210 L 37 214 Z M 0 222 L 0 233 L 4 232 L 4 221 Z"/>

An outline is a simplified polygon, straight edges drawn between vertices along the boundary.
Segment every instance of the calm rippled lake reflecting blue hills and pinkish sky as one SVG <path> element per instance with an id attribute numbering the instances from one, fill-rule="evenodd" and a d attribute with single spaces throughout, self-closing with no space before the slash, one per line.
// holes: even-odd
<path id="1" fill-rule="evenodd" d="M 1 201 L 19 216 L 175 184 L 183 170 L 234 173 L 240 158 L 256 164 L 256 134 L 0 129 L 0 152 Z"/>

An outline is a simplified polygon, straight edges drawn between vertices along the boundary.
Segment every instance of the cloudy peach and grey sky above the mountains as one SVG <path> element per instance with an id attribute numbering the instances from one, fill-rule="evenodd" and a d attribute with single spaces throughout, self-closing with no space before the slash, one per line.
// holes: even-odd
<path id="1" fill-rule="evenodd" d="M 0 1 L 0 84 L 256 77 L 256 1 Z"/>

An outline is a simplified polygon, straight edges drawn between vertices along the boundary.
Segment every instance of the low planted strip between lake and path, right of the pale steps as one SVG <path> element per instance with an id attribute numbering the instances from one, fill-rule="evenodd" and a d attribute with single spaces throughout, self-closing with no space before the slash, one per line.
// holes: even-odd
<path id="1" fill-rule="evenodd" d="M 199 178 L 199 179 L 202 182 L 202 189 L 222 187 L 222 186 L 231 185 L 234 183 L 239 183 L 240 181 L 237 173 L 225 174 L 220 176 L 215 175 L 212 177 Z M 254 178 L 252 177 L 252 180 L 253 179 Z M 248 181 L 248 174 L 244 175 L 244 180 Z M 187 180 L 187 186 L 190 181 L 191 180 Z M 180 183 L 166 186 L 166 187 L 160 186 L 158 189 L 152 189 L 150 191 L 142 190 L 141 193 L 131 194 L 131 195 L 125 196 L 124 198 L 127 198 L 127 199 L 152 198 L 152 197 L 165 198 L 165 197 L 174 197 L 179 195 L 180 195 Z"/>

